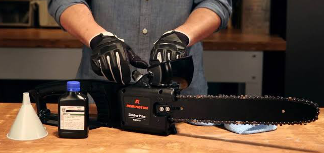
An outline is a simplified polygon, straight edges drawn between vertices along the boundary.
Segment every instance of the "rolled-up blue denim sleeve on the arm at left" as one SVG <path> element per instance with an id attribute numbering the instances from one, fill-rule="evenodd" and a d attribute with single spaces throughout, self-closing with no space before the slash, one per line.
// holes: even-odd
<path id="1" fill-rule="evenodd" d="M 63 11 L 72 5 L 84 4 L 89 10 L 90 7 L 85 0 L 48 0 L 48 13 L 55 19 L 55 21 L 62 27 L 60 17 Z"/>

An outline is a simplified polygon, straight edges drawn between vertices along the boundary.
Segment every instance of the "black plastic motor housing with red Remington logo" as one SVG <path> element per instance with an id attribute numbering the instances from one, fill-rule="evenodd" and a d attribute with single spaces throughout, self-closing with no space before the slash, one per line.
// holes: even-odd
<path id="1" fill-rule="evenodd" d="M 157 114 L 156 105 L 168 105 L 168 102 L 175 101 L 177 92 L 178 90 L 175 90 L 175 88 L 137 86 L 129 86 L 120 90 L 122 129 L 158 135 L 176 134 L 177 130 L 174 123 L 170 121 L 168 115 Z M 135 115 L 145 116 L 145 118 Z"/>

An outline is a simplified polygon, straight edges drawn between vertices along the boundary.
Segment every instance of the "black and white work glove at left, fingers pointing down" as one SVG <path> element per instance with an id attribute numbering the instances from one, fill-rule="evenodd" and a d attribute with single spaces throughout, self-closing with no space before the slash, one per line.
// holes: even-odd
<path id="1" fill-rule="evenodd" d="M 148 67 L 148 64 L 136 55 L 123 39 L 110 32 L 92 38 L 90 47 L 92 70 L 107 80 L 128 84 L 131 81 L 129 64 L 137 68 Z"/>

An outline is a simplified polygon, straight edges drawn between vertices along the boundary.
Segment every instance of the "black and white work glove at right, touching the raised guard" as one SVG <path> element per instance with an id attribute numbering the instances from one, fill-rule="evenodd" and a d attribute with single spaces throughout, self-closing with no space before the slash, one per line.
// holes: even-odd
<path id="1" fill-rule="evenodd" d="M 189 37 L 180 31 L 172 30 L 164 33 L 154 43 L 149 60 L 150 65 L 188 56 L 186 47 L 189 41 Z"/>

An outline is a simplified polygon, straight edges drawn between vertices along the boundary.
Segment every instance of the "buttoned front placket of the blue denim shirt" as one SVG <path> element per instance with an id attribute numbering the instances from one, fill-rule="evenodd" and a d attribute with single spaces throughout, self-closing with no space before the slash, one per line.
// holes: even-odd
<path id="1" fill-rule="evenodd" d="M 143 53 L 143 57 L 149 54 L 149 33 L 151 32 L 149 29 L 150 1 L 152 0 L 141 0 L 139 49 L 140 52 Z M 148 58 L 144 60 L 148 60 Z"/>

